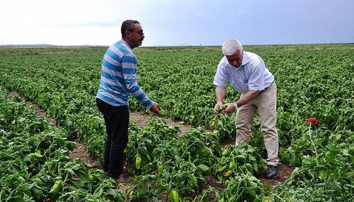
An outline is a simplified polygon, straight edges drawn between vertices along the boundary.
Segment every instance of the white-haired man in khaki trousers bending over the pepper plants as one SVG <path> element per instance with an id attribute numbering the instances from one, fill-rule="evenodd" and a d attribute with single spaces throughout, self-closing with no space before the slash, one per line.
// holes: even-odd
<path id="1" fill-rule="evenodd" d="M 278 132 L 277 122 L 277 86 L 273 74 L 265 67 L 263 60 L 256 54 L 243 51 L 240 41 L 227 40 L 223 44 L 223 59 L 219 62 L 214 77 L 216 85 L 216 105 L 223 106 L 226 86 L 231 86 L 242 93 L 235 103 L 227 103 L 223 113 L 236 115 L 236 144 L 249 141 L 251 124 L 258 109 L 264 133 L 264 144 L 267 149 L 268 169 L 266 176 L 274 178 L 278 166 Z"/>

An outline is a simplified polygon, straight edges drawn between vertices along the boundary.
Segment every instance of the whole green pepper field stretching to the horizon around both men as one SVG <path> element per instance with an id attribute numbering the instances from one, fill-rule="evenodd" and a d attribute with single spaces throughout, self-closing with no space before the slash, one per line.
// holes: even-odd
<path id="1" fill-rule="evenodd" d="M 221 47 L 138 47 L 138 83 L 164 110 L 145 128 L 130 123 L 131 176 L 123 189 L 101 170 L 105 125 L 95 96 L 107 47 L 0 49 L 0 201 L 352 201 L 354 44 L 258 45 L 278 88 L 280 163 L 295 168 L 271 187 L 255 176 L 267 151 L 259 117 L 249 144 L 235 138 L 235 114 L 216 116 Z M 37 116 L 16 91 L 55 118 Z M 240 93 L 230 85 L 225 103 Z M 149 114 L 134 97 L 129 110 Z M 309 122 L 314 117 L 319 122 Z M 307 120 L 307 121 L 305 121 Z M 313 119 L 310 119 L 313 120 Z M 211 132 L 210 132 L 211 131 Z M 71 159 L 75 142 L 97 159 Z M 265 168 L 266 169 L 266 168 Z M 210 186 L 213 178 L 218 186 Z"/>

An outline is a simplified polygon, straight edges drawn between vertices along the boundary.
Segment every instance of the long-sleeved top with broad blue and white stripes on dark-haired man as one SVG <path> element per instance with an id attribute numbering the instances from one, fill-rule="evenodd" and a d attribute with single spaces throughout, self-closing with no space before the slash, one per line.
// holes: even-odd
<path id="1" fill-rule="evenodd" d="M 123 39 L 110 46 L 103 58 L 97 97 L 112 106 L 128 106 L 132 94 L 146 109 L 154 103 L 137 82 L 137 58 Z"/>

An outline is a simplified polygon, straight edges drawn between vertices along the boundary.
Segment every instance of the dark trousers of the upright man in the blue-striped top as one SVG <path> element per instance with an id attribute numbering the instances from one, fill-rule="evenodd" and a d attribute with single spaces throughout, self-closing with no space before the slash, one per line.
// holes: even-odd
<path id="1" fill-rule="evenodd" d="M 96 104 L 103 114 L 107 130 L 103 170 L 110 177 L 118 178 L 123 172 L 124 149 L 128 143 L 128 107 L 111 106 L 99 98 L 96 98 Z"/>

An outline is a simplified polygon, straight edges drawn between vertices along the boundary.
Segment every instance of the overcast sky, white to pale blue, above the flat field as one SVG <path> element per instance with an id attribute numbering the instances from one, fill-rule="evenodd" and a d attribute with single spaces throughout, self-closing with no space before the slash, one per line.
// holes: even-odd
<path id="1" fill-rule="evenodd" d="M 111 45 L 126 19 L 143 46 L 352 42 L 352 0 L 0 0 L 0 44 Z"/>

